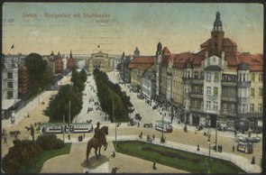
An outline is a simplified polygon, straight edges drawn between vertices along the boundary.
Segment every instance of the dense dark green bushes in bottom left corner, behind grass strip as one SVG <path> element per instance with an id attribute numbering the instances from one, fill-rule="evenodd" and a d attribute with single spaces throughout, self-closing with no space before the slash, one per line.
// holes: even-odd
<path id="1" fill-rule="evenodd" d="M 14 140 L 14 146 L 2 160 L 5 173 L 19 173 L 30 166 L 34 158 L 42 152 L 60 149 L 64 146 L 62 140 L 56 135 L 40 135 L 36 141 Z"/>

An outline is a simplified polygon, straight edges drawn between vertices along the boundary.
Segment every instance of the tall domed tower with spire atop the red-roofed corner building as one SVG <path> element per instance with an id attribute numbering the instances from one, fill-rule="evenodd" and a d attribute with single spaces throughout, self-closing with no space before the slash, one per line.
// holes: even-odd
<path id="1" fill-rule="evenodd" d="M 223 23 L 220 19 L 220 13 L 216 12 L 216 21 L 214 22 L 214 28 L 211 32 L 212 38 L 212 48 L 211 55 L 220 56 L 222 52 L 223 40 L 225 37 L 225 32 L 223 31 Z"/>

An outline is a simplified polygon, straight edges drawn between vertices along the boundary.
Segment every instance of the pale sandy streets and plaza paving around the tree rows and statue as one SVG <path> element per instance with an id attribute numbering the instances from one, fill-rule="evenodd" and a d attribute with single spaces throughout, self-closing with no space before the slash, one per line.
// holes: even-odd
<path id="1" fill-rule="evenodd" d="M 110 80 L 113 82 L 118 82 L 118 72 L 112 71 L 107 73 Z M 69 77 L 64 77 L 62 79 L 61 84 L 68 84 Z M 158 132 L 154 129 L 154 124 L 156 120 L 160 120 L 162 116 L 160 115 L 161 111 L 152 110 L 152 106 L 148 106 L 144 100 L 139 99 L 135 93 L 130 92 L 127 85 L 120 85 L 121 88 L 126 92 L 128 96 L 131 97 L 131 102 L 133 103 L 133 107 L 135 108 L 131 117 L 134 118 L 136 113 L 139 113 L 142 116 L 142 120 L 140 122 L 140 127 L 137 125 L 128 126 L 127 123 L 121 124 L 117 127 L 117 140 L 123 139 L 138 139 L 138 135 L 143 133 L 143 140 L 146 140 L 147 134 L 155 135 L 155 143 L 159 143 L 159 138 L 161 137 L 161 132 Z M 49 120 L 48 116 L 42 114 L 42 110 L 46 108 L 49 103 L 50 96 L 56 94 L 57 91 L 46 91 L 41 95 L 41 102 L 44 102 L 44 105 L 36 103 L 35 106 L 32 106 L 31 112 L 29 112 L 30 117 L 22 117 L 20 122 L 16 124 L 10 125 L 8 122 L 3 123 L 3 126 L 7 133 L 14 130 L 21 131 L 19 135 L 20 139 L 31 139 L 29 133 L 26 132 L 25 126 L 29 126 L 30 124 L 38 123 L 38 122 L 47 122 Z M 90 100 L 90 102 L 89 102 Z M 93 101 L 92 101 L 93 100 Z M 101 110 L 96 110 L 98 107 L 95 102 L 98 102 L 98 98 L 96 97 L 96 84 L 93 76 L 87 77 L 87 83 L 85 91 L 83 92 L 83 108 L 79 115 L 77 115 L 73 123 L 77 122 L 87 122 L 88 120 L 92 120 L 92 124 L 94 127 L 96 126 L 96 122 L 100 121 L 101 125 L 109 126 L 109 134 L 107 136 L 108 149 L 107 151 L 102 150 L 102 157 L 96 161 L 94 151 L 90 153 L 89 163 L 85 161 L 85 153 L 87 148 L 87 141 L 93 136 L 93 134 L 86 134 L 83 142 L 78 142 L 79 134 L 71 134 L 71 139 L 66 140 L 66 142 L 72 142 L 71 151 L 68 155 L 61 155 L 55 158 L 46 161 L 42 167 L 41 172 L 43 173 L 57 173 L 57 172 L 78 172 L 82 173 L 85 171 L 89 172 L 110 172 L 113 167 L 119 167 L 118 172 L 127 172 L 127 173 L 137 173 L 137 172 L 184 172 L 182 170 L 173 169 L 163 165 L 157 165 L 158 170 L 152 170 L 152 162 L 151 161 L 143 161 L 131 156 L 127 156 L 121 153 L 116 152 L 116 157 L 111 158 L 111 153 L 115 151 L 112 141 L 115 140 L 115 124 L 111 124 L 109 121 L 105 121 L 107 116 Z M 27 107 L 27 106 L 26 106 Z M 88 111 L 88 107 L 93 108 L 92 111 Z M 20 112 L 18 112 L 20 113 Z M 162 112 L 164 115 L 165 112 Z M 24 114 L 22 114 L 24 115 Z M 170 118 L 168 114 L 166 114 L 165 120 L 169 120 Z M 153 128 L 143 128 L 143 124 L 152 123 Z M 188 149 L 188 151 L 195 152 L 197 150 L 197 143 L 200 145 L 200 153 L 208 152 L 208 143 L 207 138 L 204 135 L 204 132 L 207 131 L 204 128 L 202 131 L 199 131 L 197 134 L 195 133 L 196 128 L 194 126 L 188 126 L 188 133 L 183 131 L 184 124 L 178 124 L 178 120 L 173 120 L 173 132 L 166 135 L 167 143 L 166 146 L 173 146 Z M 62 134 L 58 134 L 60 138 L 62 138 Z M 247 135 L 245 135 L 247 136 Z M 254 135 L 253 135 L 254 136 Z M 261 135 L 260 135 L 261 136 Z M 13 143 L 12 140 L 14 138 L 7 137 L 7 143 L 2 144 L 2 157 L 8 151 Z M 215 141 L 215 130 L 211 130 L 211 143 Z M 259 166 L 261 165 L 261 152 L 262 152 L 262 143 L 254 143 L 254 153 L 245 154 L 243 152 L 232 152 L 232 146 L 236 147 L 236 143 L 234 142 L 234 133 L 232 132 L 218 132 L 218 144 L 223 145 L 223 152 L 215 152 L 211 150 L 211 155 L 215 155 L 216 157 L 227 157 L 232 160 L 242 160 L 239 161 L 239 164 L 242 164 L 243 167 L 248 167 L 249 170 L 254 170 L 257 172 L 259 170 Z M 255 156 L 255 165 L 251 165 L 252 156 Z M 136 169 L 135 167 L 138 167 Z M 150 168 L 149 168 L 150 167 Z"/>

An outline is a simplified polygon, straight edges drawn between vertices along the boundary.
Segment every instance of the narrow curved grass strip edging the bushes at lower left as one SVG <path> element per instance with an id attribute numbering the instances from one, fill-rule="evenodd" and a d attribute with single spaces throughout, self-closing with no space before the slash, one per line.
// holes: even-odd
<path id="1" fill-rule="evenodd" d="M 66 143 L 65 146 L 61 149 L 45 151 L 41 153 L 41 155 L 37 156 L 32 161 L 32 164 L 29 167 L 22 170 L 21 173 L 39 173 L 45 161 L 62 154 L 69 154 L 70 149 L 71 149 L 71 143 Z"/>

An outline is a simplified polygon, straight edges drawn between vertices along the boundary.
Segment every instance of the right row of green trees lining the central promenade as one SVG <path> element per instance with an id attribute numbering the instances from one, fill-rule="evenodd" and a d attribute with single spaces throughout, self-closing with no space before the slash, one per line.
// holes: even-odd
<path id="1" fill-rule="evenodd" d="M 95 69 L 93 74 L 96 80 L 97 96 L 103 111 L 110 116 L 112 122 L 128 121 L 128 114 L 133 112 L 130 97 L 126 96 L 119 85 L 111 82 L 105 72 Z M 114 118 L 113 111 L 115 111 Z"/>

